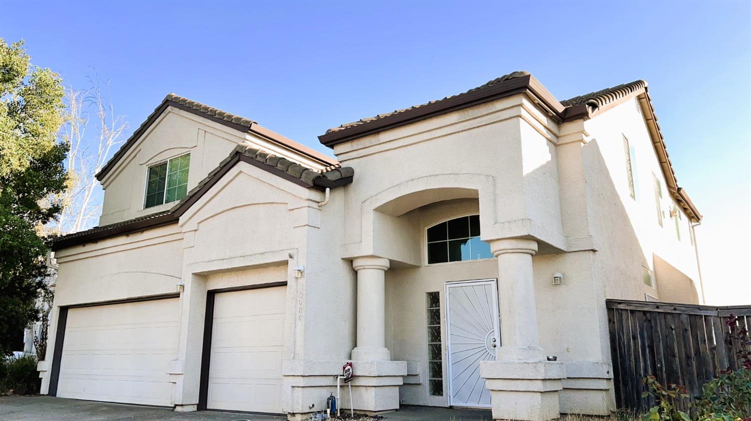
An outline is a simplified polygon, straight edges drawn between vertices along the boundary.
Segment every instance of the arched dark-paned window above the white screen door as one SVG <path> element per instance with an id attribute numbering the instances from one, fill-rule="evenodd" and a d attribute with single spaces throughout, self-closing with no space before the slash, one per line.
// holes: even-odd
<path id="1" fill-rule="evenodd" d="M 480 239 L 480 215 L 454 218 L 427 229 L 428 264 L 490 257 L 490 245 Z"/>

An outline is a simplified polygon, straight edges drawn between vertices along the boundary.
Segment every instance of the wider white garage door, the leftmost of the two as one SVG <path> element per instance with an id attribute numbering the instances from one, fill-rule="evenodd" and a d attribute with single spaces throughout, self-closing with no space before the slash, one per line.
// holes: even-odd
<path id="1" fill-rule="evenodd" d="M 57 395 L 169 406 L 179 299 L 70 308 Z"/>

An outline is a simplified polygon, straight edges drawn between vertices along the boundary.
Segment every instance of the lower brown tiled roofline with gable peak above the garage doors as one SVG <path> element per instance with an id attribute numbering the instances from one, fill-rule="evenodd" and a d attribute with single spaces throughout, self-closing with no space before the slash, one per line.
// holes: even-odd
<path id="1" fill-rule="evenodd" d="M 281 176 L 297 185 L 305 188 L 315 188 L 325 190 L 326 188 L 337 188 L 342 185 L 348 185 L 354 178 L 354 170 L 351 167 L 335 167 L 325 170 L 322 173 L 303 167 L 281 158 L 276 155 L 270 155 L 268 152 L 260 151 L 246 145 L 238 145 L 230 155 L 219 163 L 219 166 L 212 170 L 195 188 L 192 188 L 185 197 L 176 203 L 170 210 L 156 212 L 149 215 L 139 216 L 138 218 L 129 219 L 128 221 L 116 222 L 114 224 L 94 227 L 90 230 L 80 231 L 59 236 L 50 239 L 47 243 L 53 251 L 62 248 L 82 245 L 87 242 L 95 242 L 101 239 L 108 239 L 114 236 L 121 236 L 130 233 L 138 233 L 151 228 L 164 227 L 165 225 L 176 224 L 185 211 L 193 203 L 196 203 L 206 194 L 219 179 L 222 178 L 238 162 L 246 162 L 261 170 Z"/>

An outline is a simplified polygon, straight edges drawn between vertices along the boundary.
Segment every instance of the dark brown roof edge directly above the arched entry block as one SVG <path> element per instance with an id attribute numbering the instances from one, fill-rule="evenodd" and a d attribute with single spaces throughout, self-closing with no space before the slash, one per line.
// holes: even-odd
<path id="1" fill-rule="evenodd" d="M 566 107 L 563 107 L 532 74 L 517 71 L 459 95 L 331 128 L 325 134 L 318 136 L 318 140 L 325 146 L 333 147 L 337 143 L 354 140 L 368 134 L 524 92 L 528 93 L 533 100 L 538 100 L 535 102 L 546 109 L 551 116 L 562 121 Z"/>

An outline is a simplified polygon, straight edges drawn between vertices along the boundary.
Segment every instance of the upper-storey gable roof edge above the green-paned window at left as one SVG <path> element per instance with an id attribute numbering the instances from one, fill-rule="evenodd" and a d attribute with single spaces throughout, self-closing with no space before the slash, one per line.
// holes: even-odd
<path id="1" fill-rule="evenodd" d="M 125 153 L 128 152 L 128 150 L 131 149 L 131 147 L 140 139 L 141 135 L 143 135 L 146 130 L 148 130 L 151 125 L 154 124 L 156 119 L 161 116 L 161 113 L 164 113 L 164 110 L 167 110 L 167 107 L 175 107 L 179 110 L 187 111 L 188 113 L 195 114 L 196 116 L 201 116 L 205 119 L 210 119 L 213 122 L 225 125 L 228 128 L 233 128 L 234 130 L 240 131 L 242 133 L 256 134 L 267 140 L 271 140 L 275 143 L 281 144 L 282 146 L 293 149 L 294 151 L 299 152 L 300 154 L 305 155 L 308 158 L 312 158 L 313 161 L 320 162 L 322 165 L 324 165 L 324 167 L 330 167 L 339 164 L 339 161 L 336 161 L 336 159 L 330 158 L 322 154 L 321 152 L 317 152 L 313 149 L 308 148 L 307 146 L 301 145 L 300 143 L 297 143 L 294 140 L 291 140 L 288 137 L 284 137 L 274 131 L 270 131 L 269 129 L 264 128 L 261 125 L 258 125 L 257 122 L 251 119 L 246 119 L 245 117 L 237 116 L 232 113 L 227 113 L 226 111 L 222 111 L 214 107 L 209 107 L 208 105 L 201 104 L 200 102 L 192 101 L 188 98 L 170 93 L 167 94 L 166 97 L 164 97 L 164 100 L 162 100 L 161 104 L 159 104 L 159 106 L 154 109 L 153 113 L 149 114 L 149 116 L 146 117 L 146 120 L 141 123 L 141 125 L 133 132 L 133 134 L 131 134 L 131 137 L 128 137 L 128 140 L 125 140 L 125 143 L 120 147 L 120 149 L 117 150 L 117 152 L 115 152 L 115 155 L 113 155 L 113 157 L 110 158 L 109 161 L 107 161 L 107 164 L 104 164 L 104 167 L 101 167 L 101 170 L 99 170 L 99 172 L 96 174 L 96 178 L 99 181 L 104 179 L 104 176 L 107 176 L 107 173 L 109 173 L 113 169 L 113 167 L 120 161 L 120 159 L 125 156 Z"/>

